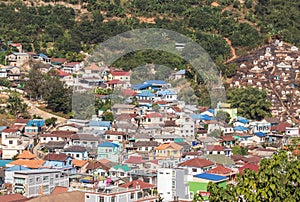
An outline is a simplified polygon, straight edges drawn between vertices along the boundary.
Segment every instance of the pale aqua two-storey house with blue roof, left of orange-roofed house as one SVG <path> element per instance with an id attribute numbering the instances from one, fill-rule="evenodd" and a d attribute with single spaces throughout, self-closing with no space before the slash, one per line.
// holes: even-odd
<path id="1" fill-rule="evenodd" d="M 109 159 L 112 162 L 119 162 L 121 157 L 121 145 L 113 142 L 103 142 L 98 145 L 97 159 Z"/>

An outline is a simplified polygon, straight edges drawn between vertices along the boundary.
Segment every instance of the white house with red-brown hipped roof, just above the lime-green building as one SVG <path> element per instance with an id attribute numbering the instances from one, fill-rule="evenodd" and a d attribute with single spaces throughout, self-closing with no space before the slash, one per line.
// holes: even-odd
<path id="1" fill-rule="evenodd" d="M 178 164 L 179 168 L 187 168 L 192 175 L 206 172 L 214 166 L 214 162 L 202 158 L 193 158 Z"/>

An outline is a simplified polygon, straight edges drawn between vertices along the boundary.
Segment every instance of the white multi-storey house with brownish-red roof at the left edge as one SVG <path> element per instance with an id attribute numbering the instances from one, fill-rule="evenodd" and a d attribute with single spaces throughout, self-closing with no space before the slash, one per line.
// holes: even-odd
<path id="1" fill-rule="evenodd" d="M 7 128 L 2 131 L 2 145 L 2 159 L 12 159 L 28 148 L 29 140 L 18 129 Z"/>

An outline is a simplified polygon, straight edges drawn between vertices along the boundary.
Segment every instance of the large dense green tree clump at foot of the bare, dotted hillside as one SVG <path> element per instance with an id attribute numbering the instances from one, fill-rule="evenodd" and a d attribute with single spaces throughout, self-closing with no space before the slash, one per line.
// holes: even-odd
<path id="1" fill-rule="evenodd" d="M 238 109 L 240 116 L 248 119 L 262 120 L 271 116 L 272 103 L 267 92 L 258 88 L 232 88 L 227 91 L 228 102 Z"/>

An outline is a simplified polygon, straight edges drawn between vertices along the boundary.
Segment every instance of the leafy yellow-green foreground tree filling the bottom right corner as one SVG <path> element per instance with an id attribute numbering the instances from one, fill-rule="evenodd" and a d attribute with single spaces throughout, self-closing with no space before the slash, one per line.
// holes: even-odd
<path id="1" fill-rule="evenodd" d="M 209 183 L 211 201 L 300 201 L 300 162 L 286 151 L 263 159 L 256 173 L 245 170 L 235 185 L 220 188 Z"/>

